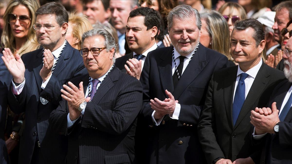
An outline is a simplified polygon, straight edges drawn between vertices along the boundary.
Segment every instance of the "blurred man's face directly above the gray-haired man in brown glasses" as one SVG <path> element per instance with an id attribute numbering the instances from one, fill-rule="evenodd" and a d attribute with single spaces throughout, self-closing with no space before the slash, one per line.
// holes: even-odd
<path id="1" fill-rule="evenodd" d="M 97 21 L 103 23 L 110 15 L 109 11 L 105 10 L 100 0 L 95 0 L 85 4 L 83 14 L 87 16 L 91 24 L 95 24 Z"/>

